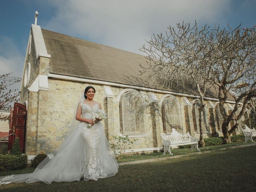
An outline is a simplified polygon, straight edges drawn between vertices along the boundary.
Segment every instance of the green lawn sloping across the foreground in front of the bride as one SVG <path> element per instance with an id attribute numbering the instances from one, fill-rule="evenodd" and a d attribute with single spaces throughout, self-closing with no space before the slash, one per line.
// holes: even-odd
<path id="1" fill-rule="evenodd" d="M 25 170 L 26 171 L 26 170 Z M 6 172 L 5 172 L 6 173 Z M 212 150 L 164 161 L 120 166 L 114 177 L 50 185 L 9 184 L 0 191 L 256 191 L 256 146 Z"/>

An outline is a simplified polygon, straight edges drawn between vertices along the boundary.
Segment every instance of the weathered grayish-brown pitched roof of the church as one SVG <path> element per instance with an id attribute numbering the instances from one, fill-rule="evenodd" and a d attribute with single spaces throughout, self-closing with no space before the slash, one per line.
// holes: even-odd
<path id="1" fill-rule="evenodd" d="M 162 87 L 152 87 L 146 76 L 139 75 L 139 64 L 146 64 L 142 55 L 49 30 L 42 29 L 42 34 L 47 52 L 51 55 L 49 72 L 52 74 L 164 90 Z M 194 92 L 189 83 L 185 87 L 175 86 L 169 90 L 184 94 Z M 218 94 L 214 88 L 210 88 L 205 96 L 217 98 Z M 229 99 L 233 100 L 231 97 Z"/>

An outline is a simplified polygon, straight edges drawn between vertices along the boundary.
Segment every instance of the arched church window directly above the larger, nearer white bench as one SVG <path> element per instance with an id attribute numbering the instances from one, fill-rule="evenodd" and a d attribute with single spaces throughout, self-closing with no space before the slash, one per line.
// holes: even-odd
<path id="1" fill-rule="evenodd" d="M 174 96 L 163 100 L 162 120 L 165 133 L 172 133 L 172 128 L 179 133 L 183 133 L 180 103 Z"/>

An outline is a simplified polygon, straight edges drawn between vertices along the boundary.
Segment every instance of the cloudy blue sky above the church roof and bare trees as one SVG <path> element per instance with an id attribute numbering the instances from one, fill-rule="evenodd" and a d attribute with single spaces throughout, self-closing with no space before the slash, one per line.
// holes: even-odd
<path id="1" fill-rule="evenodd" d="M 0 74 L 22 77 L 35 11 L 41 28 L 142 54 L 154 34 L 179 22 L 256 25 L 256 0 L 1 0 Z"/>

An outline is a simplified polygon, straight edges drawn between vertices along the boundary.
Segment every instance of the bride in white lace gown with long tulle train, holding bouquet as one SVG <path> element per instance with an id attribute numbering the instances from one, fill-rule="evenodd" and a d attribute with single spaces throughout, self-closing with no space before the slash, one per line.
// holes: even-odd
<path id="1" fill-rule="evenodd" d="M 84 99 L 78 103 L 76 120 L 79 125 L 62 142 L 52 160 L 44 159 L 33 173 L 4 176 L 0 184 L 14 182 L 71 182 L 98 180 L 114 176 L 118 164 L 110 154 L 108 140 L 105 136 L 102 119 L 95 116 L 101 112 L 100 103 L 93 100 L 95 89 L 88 86 Z"/>

